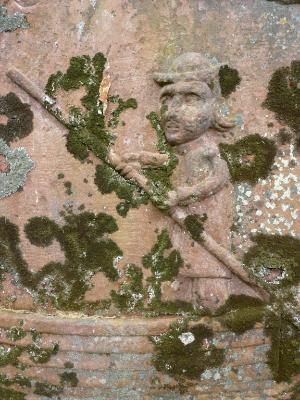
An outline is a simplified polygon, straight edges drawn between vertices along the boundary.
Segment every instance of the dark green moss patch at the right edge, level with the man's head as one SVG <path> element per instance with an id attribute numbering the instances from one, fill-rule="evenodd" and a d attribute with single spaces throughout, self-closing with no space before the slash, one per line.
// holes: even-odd
<path id="1" fill-rule="evenodd" d="M 288 125 L 300 137 L 300 61 L 278 68 L 272 75 L 263 106 L 275 113 L 279 122 Z"/>

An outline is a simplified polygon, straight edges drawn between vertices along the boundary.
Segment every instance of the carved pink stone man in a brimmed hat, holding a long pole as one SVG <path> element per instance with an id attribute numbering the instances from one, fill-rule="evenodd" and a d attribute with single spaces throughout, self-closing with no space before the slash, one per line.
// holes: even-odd
<path id="1" fill-rule="evenodd" d="M 169 71 L 156 73 L 154 79 L 162 85 L 161 123 L 178 157 L 172 176 L 174 189 L 167 200 L 171 214 L 177 221 L 188 215 L 205 215 L 205 231 L 229 252 L 232 186 L 218 144 L 220 132 L 228 131 L 234 123 L 218 112 L 218 66 L 201 54 L 185 53 L 175 59 Z M 127 156 L 127 161 L 134 159 L 143 162 L 141 155 Z M 177 299 L 214 308 L 233 293 L 257 295 L 220 258 L 195 243 L 182 226 L 174 224 L 170 231 L 173 245 L 185 261 L 172 284 Z"/>

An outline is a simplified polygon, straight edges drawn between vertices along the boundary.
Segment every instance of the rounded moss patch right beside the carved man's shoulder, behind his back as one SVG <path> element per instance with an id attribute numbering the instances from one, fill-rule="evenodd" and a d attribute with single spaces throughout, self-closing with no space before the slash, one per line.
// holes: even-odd
<path id="1" fill-rule="evenodd" d="M 267 178 L 276 155 L 275 143 L 260 135 L 249 135 L 234 144 L 221 143 L 220 154 L 227 162 L 233 182 L 255 184 Z"/>

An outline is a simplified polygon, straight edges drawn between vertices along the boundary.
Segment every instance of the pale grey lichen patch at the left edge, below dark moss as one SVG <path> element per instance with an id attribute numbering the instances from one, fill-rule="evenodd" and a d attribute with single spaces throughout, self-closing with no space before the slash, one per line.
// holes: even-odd
<path id="1" fill-rule="evenodd" d="M 0 154 L 9 166 L 7 172 L 0 172 L 0 198 L 17 192 L 26 182 L 27 174 L 34 167 L 34 162 L 22 147 L 11 149 L 0 139 Z"/>

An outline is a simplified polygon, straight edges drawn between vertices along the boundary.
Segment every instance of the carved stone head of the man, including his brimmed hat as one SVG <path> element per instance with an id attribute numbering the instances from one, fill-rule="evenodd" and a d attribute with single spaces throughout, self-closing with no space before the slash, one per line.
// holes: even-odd
<path id="1" fill-rule="evenodd" d="M 156 82 L 163 85 L 161 122 L 170 144 L 194 140 L 215 125 L 221 93 L 218 67 L 199 53 L 185 53 L 174 60 L 166 73 L 154 75 Z"/>

